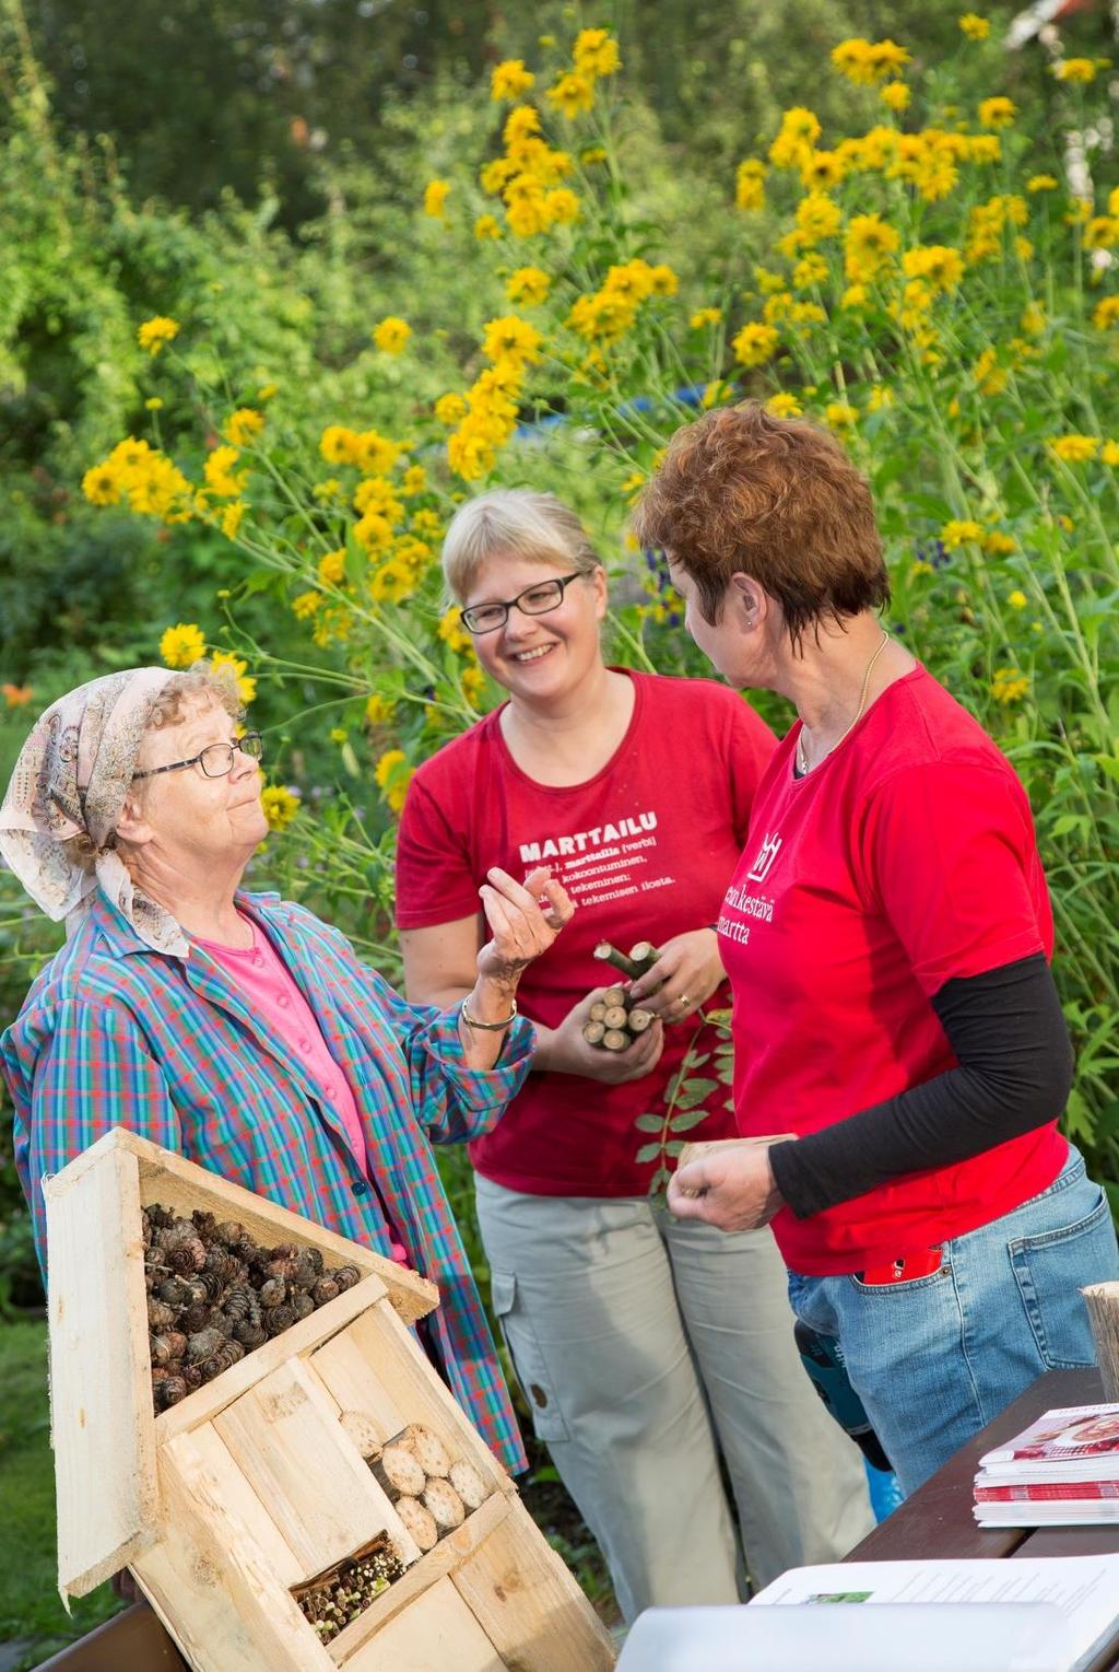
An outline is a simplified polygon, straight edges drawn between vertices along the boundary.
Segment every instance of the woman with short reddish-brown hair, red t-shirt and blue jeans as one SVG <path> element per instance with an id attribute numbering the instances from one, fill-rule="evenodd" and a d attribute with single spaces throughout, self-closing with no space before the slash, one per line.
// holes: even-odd
<path id="1" fill-rule="evenodd" d="M 1072 1053 L 1029 803 L 884 630 L 870 490 L 830 435 L 708 413 L 635 532 L 713 665 L 798 714 L 718 923 L 738 1130 L 782 1139 L 678 1169 L 670 1206 L 772 1224 L 912 1491 L 1044 1369 L 1092 1363 L 1077 1289 L 1119 1276 L 1057 1130 Z"/>

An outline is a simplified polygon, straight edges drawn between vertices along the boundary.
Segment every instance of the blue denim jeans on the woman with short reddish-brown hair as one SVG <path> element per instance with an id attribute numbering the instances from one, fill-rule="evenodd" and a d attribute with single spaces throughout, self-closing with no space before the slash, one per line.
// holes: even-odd
<path id="1" fill-rule="evenodd" d="M 838 1341 L 904 1491 L 914 1491 L 1046 1369 L 1096 1363 L 1086 1282 L 1119 1277 L 1107 1197 L 1069 1150 L 1059 1177 L 952 1237 L 930 1277 L 788 1274 L 798 1318 Z"/>

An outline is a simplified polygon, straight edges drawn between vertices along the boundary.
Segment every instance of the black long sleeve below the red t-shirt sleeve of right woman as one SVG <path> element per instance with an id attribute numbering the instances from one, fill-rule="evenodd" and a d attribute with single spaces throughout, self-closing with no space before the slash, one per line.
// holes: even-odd
<path id="1" fill-rule="evenodd" d="M 797 1219 L 902 1174 L 969 1160 L 1064 1110 L 1072 1047 L 1041 953 L 945 981 L 932 1008 L 957 1067 L 770 1149 L 777 1187 Z"/>

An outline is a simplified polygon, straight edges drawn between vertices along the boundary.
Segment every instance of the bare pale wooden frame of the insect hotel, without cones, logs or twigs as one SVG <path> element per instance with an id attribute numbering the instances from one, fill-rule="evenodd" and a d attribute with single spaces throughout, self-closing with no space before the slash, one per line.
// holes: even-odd
<path id="1" fill-rule="evenodd" d="M 608 1634 L 408 1328 L 416 1272 L 124 1129 L 45 1185 L 58 1590 L 130 1567 L 195 1672 L 596 1672 Z M 361 1281 L 159 1416 L 140 1209 L 241 1221 Z M 346 1425 L 342 1423 L 346 1418 Z M 424 1425 L 489 1495 L 421 1555 L 351 1438 Z M 329 1642 L 296 1593 L 386 1533 L 396 1578 Z"/>

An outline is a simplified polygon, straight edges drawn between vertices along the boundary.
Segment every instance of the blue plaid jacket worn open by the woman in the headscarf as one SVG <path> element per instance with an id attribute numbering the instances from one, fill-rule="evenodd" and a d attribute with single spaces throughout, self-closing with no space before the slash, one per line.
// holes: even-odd
<path id="1" fill-rule="evenodd" d="M 344 1068 L 369 1170 L 409 1257 L 439 1286 L 431 1319 L 454 1396 L 511 1470 L 526 1466 L 493 1338 L 429 1139 L 476 1137 L 528 1073 L 519 1020 L 489 1073 L 463 1067 L 458 1012 L 408 1005 L 349 941 L 277 895 L 237 903 L 271 938 Z M 235 983 L 194 948 L 155 953 L 99 896 L 0 1035 L 15 1104 L 15 1162 L 45 1266 L 37 1180 L 125 1125 L 341 1236 L 389 1254 L 377 1190 L 314 1083 Z"/>

